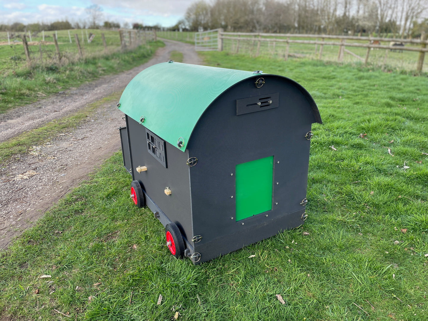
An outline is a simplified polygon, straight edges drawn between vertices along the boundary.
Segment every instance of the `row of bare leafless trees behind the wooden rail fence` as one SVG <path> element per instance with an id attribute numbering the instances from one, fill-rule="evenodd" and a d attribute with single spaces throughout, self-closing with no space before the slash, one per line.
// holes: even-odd
<path id="1" fill-rule="evenodd" d="M 427 7 L 428 0 L 199 0 L 174 27 L 408 37 L 428 33 Z"/>

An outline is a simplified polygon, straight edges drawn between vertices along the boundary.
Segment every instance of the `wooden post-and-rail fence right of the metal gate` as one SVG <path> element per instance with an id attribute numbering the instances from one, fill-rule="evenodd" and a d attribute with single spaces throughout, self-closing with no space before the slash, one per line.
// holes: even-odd
<path id="1" fill-rule="evenodd" d="M 418 52 L 419 56 L 416 61 L 416 71 L 418 72 L 422 71 L 425 52 L 428 51 L 428 48 L 426 48 L 426 45 L 428 42 L 426 41 L 425 34 L 423 33 L 420 39 L 397 39 L 397 38 L 380 38 L 380 37 L 371 37 L 371 36 L 359 37 L 359 36 L 334 36 L 334 35 L 311 35 L 311 34 L 289 34 L 289 33 L 230 33 L 230 32 L 224 32 L 222 29 L 219 29 L 216 38 L 218 40 L 217 42 L 218 51 L 223 51 L 224 41 L 229 40 L 230 42 L 232 42 L 231 51 L 235 53 L 238 53 L 240 51 L 240 45 L 242 47 L 243 43 L 247 44 L 247 48 L 250 48 L 251 52 L 254 52 L 254 47 L 256 46 L 255 56 L 259 56 L 260 46 L 262 43 L 268 43 L 269 45 L 271 45 L 272 49 L 270 50 L 273 52 L 273 54 L 275 53 L 276 44 L 285 44 L 285 53 L 284 53 L 285 60 L 288 59 L 288 56 L 292 55 L 289 52 L 290 44 L 315 45 L 315 53 L 317 54 L 318 59 L 323 58 L 324 46 L 326 45 L 337 46 L 339 47 L 338 54 L 337 54 L 337 61 L 342 62 L 344 53 L 348 53 L 351 56 L 354 56 L 355 58 L 360 59 L 365 64 L 367 64 L 369 61 L 369 55 L 372 49 L 385 50 L 383 64 L 385 64 L 386 62 L 388 51 L 398 50 L 398 51 Z M 315 40 L 305 40 L 307 38 L 315 39 Z M 321 40 L 318 40 L 318 39 L 321 39 Z M 354 42 L 349 42 L 349 41 L 354 41 Z M 381 45 L 381 42 L 386 42 L 388 43 L 388 45 Z M 392 43 L 399 44 L 399 45 L 398 46 L 392 45 Z M 406 46 L 407 44 L 410 44 L 412 46 Z M 365 56 L 360 56 L 356 53 L 353 53 L 352 51 L 349 51 L 345 47 L 366 48 Z M 294 56 L 296 56 L 296 54 L 294 54 Z"/>

